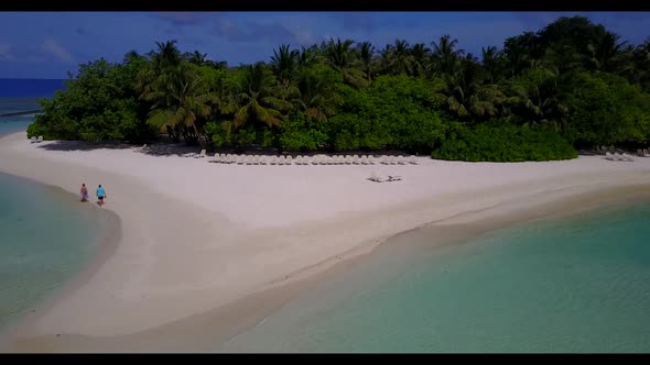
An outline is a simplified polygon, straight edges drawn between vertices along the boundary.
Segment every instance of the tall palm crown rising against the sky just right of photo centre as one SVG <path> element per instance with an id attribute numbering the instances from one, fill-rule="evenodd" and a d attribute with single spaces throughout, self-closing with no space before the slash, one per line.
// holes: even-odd
<path id="1" fill-rule="evenodd" d="M 329 38 L 324 48 L 324 56 L 328 65 L 340 73 L 345 82 L 360 87 L 367 84 L 366 75 L 357 68 L 359 63 L 353 44 L 355 42 L 351 40 L 342 42 L 340 38 L 337 38 L 334 42 L 334 38 Z"/>

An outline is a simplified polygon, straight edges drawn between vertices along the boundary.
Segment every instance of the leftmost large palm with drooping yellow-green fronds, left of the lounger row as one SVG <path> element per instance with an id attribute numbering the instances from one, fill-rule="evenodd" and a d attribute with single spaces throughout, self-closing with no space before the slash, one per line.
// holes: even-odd
<path id="1" fill-rule="evenodd" d="M 218 101 L 202 78 L 187 67 L 161 75 L 141 99 L 153 102 L 148 123 L 161 131 L 191 128 L 196 137 L 201 135 L 197 120 L 207 117 L 212 104 Z"/>

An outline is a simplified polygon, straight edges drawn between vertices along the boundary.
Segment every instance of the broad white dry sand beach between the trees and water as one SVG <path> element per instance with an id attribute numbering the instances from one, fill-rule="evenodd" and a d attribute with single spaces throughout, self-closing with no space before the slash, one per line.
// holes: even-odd
<path id="1" fill-rule="evenodd" d="M 25 323 L 19 338 L 150 331 L 322 272 L 430 222 L 480 219 L 570 196 L 650 184 L 650 158 L 548 163 L 247 166 L 0 140 L 0 172 L 77 193 L 101 184 L 121 219 L 115 252 Z M 401 181 L 376 184 L 377 175 Z M 100 208 L 98 208 L 100 209 Z M 451 221 L 449 221 L 451 222 Z M 243 309 L 242 309 L 243 310 Z M 246 313 L 240 313 L 246 316 Z"/>

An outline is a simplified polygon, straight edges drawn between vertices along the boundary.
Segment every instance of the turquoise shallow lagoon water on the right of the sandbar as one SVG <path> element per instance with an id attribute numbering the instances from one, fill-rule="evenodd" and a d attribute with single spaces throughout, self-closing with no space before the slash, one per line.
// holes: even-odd
<path id="1" fill-rule="evenodd" d="M 648 352 L 648 222 L 643 203 L 379 252 L 216 350 Z"/>

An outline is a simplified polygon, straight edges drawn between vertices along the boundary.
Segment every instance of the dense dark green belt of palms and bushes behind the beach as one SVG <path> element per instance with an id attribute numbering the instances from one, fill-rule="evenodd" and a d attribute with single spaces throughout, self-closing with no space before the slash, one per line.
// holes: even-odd
<path id="1" fill-rule="evenodd" d="M 229 67 L 175 41 L 99 59 L 42 100 L 29 136 L 169 137 L 208 150 L 399 150 L 463 161 L 573 158 L 650 139 L 650 37 L 631 45 L 586 18 L 465 52 L 331 38 Z"/>

